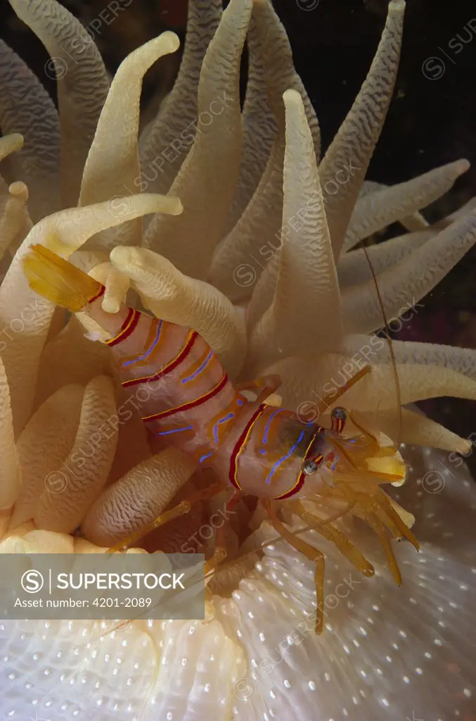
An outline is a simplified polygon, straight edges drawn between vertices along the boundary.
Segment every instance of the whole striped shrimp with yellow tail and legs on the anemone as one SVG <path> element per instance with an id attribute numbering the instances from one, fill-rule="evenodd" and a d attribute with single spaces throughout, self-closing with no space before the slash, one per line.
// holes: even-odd
<path id="1" fill-rule="evenodd" d="M 143 422 L 148 430 L 188 454 L 197 467 L 212 469 L 218 479 L 192 492 L 109 552 L 126 549 L 228 487 L 229 509 L 241 495 L 255 496 L 279 536 L 315 563 L 320 609 L 316 632 L 323 629 L 324 555 L 300 538 L 302 531 L 290 530 L 282 510 L 289 510 L 307 529 L 315 529 L 335 544 L 359 572 L 372 576 L 372 565 L 335 525 L 344 514 L 364 519 L 379 536 L 395 581 L 401 583 L 390 537 L 405 537 L 417 549 L 418 542 L 398 506 L 380 487 L 384 482 L 405 479 L 405 464 L 397 446 L 380 448 L 377 439 L 352 417 L 358 435 L 343 435 L 348 419 L 343 407 L 333 407 L 331 428 L 323 428 L 313 421 L 305 423 L 291 410 L 266 404 L 279 388 L 278 376 L 234 386 L 212 348 L 194 329 L 125 304 L 115 313 L 104 311 L 102 283 L 41 245 L 32 246 L 24 258 L 24 272 L 34 291 L 73 313 L 84 311 L 99 325 L 122 386 L 142 386 Z M 332 398 L 320 399 L 319 414 L 370 372 L 370 366 L 362 368 L 337 394 L 333 392 Z M 258 391 L 256 400 L 243 394 L 246 389 Z M 215 571 L 226 557 L 226 532 L 223 526 L 217 533 L 207 573 Z"/>

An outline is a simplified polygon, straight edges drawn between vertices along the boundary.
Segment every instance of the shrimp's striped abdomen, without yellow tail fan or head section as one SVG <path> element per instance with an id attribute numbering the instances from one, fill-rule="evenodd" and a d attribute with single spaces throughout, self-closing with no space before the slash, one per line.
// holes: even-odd
<path id="1" fill-rule="evenodd" d="M 119 380 L 135 392 L 147 428 L 169 446 L 205 462 L 246 404 L 217 356 L 194 330 L 122 306 L 102 310 L 101 296 L 86 313 L 111 334 Z"/>

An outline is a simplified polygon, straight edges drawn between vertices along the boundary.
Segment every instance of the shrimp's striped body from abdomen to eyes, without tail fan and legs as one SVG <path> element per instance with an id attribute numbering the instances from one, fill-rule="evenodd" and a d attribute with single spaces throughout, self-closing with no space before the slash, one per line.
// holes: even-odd
<path id="1" fill-rule="evenodd" d="M 249 401 L 196 331 L 127 306 L 107 313 L 103 296 L 104 286 L 84 311 L 111 335 L 105 342 L 120 383 L 136 392 L 153 435 L 257 497 L 309 495 L 331 478 L 337 456 L 328 431 L 292 411 Z"/>

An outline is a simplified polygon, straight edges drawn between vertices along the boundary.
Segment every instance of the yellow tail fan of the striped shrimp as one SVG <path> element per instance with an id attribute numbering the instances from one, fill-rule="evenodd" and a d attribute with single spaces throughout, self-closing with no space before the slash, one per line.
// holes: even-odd
<path id="1" fill-rule="evenodd" d="M 72 313 L 104 291 L 102 283 L 40 244 L 32 245 L 22 262 L 32 291 Z"/>

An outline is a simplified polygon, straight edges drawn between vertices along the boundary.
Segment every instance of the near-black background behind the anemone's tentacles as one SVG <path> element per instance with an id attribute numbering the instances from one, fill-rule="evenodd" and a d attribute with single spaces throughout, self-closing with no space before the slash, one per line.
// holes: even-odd
<path id="1" fill-rule="evenodd" d="M 6 0 L 1 37 L 42 79 L 45 50 Z M 87 25 L 108 0 L 63 0 Z M 316 5 L 315 7 L 313 7 Z M 297 71 L 318 113 L 325 149 L 364 80 L 380 39 L 386 0 L 274 0 L 294 51 Z M 310 9 L 313 8 L 313 9 Z M 183 39 L 186 0 L 132 0 L 95 35 L 107 68 L 162 30 Z M 174 80 L 178 58 L 166 56 L 149 71 L 147 101 Z M 402 182 L 465 157 L 472 167 L 445 198 L 426 211 L 436 220 L 476 195 L 476 4 L 474 0 L 408 0 L 395 96 L 369 169 L 369 179 Z M 378 239 L 377 239 L 378 241 Z M 425 299 L 405 327 L 405 338 L 476 348 L 476 252 L 469 252 Z M 423 404 L 431 417 L 461 435 L 476 430 L 472 402 L 438 399 Z M 473 460 L 473 459 L 471 459 Z M 476 467 L 476 464 L 475 464 Z"/>

